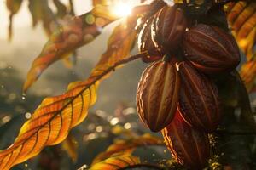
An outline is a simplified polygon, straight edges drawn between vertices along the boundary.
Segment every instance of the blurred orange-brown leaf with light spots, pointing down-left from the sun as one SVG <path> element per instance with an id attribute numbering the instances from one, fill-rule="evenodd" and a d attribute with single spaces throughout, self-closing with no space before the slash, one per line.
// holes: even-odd
<path id="1" fill-rule="evenodd" d="M 105 12 L 102 12 L 104 9 Z M 60 29 L 57 29 L 49 37 L 49 41 L 44 45 L 41 54 L 33 61 L 23 86 L 24 92 L 32 86 L 33 82 L 37 81 L 49 65 L 56 60 L 63 59 L 65 54 L 69 54 L 98 36 L 101 33 L 100 28 L 113 21 L 111 16 L 106 15 L 108 13 L 106 11 L 108 11 L 108 8 L 97 6 L 87 14 L 62 20 Z M 101 15 L 97 13 L 101 13 Z M 99 26 L 97 21 L 92 23 L 91 20 L 101 20 L 102 25 Z"/>

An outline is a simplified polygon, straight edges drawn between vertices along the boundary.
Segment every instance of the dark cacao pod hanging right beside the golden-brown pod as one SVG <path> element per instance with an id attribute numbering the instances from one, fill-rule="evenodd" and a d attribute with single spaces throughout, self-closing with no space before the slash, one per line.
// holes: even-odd
<path id="1" fill-rule="evenodd" d="M 218 89 L 188 61 L 177 65 L 181 77 L 178 109 L 192 127 L 211 133 L 220 119 Z"/>

